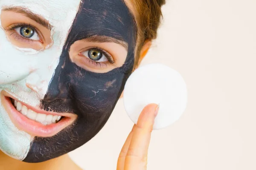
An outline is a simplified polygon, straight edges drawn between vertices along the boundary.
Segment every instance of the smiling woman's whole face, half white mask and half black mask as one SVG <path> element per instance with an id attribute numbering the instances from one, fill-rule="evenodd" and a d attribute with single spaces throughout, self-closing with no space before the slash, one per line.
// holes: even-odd
<path id="1" fill-rule="evenodd" d="M 136 37 L 123 0 L 1 0 L 0 150 L 41 162 L 89 141 L 131 74 Z"/>

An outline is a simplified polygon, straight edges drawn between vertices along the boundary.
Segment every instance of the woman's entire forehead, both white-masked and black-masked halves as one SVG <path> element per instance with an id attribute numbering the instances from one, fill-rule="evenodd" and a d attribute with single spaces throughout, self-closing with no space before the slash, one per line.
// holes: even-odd
<path id="1" fill-rule="evenodd" d="M 137 26 L 124 0 L 1 0 L 3 7 L 28 8 L 49 21 L 63 44 L 75 26 L 76 40 L 93 35 L 114 37 L 135 46 Z M 1 11 L 0 11 L 1 12 Z M 72 25 L 73 24 L 73 25 Z M 53 33 L 53 32 L 52 32 Z M 77 36 L 76 36 L 77 37 Z"/>

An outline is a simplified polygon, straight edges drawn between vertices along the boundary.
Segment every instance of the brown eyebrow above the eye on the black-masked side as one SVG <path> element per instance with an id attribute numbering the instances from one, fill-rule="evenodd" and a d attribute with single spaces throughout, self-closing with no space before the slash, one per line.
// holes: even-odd
<path id="1" fill-rule="evenodd" d="M 127 42 L 117 40 L 113 37 L 93 35 L 91 37 L 88 37 L 88 38 L 84 39 L 84 41 L 88 41 L 88 42 L 115 42 L 116 44 L 122 45 L 126 50 L 128 50 L 128 43 Z"/>

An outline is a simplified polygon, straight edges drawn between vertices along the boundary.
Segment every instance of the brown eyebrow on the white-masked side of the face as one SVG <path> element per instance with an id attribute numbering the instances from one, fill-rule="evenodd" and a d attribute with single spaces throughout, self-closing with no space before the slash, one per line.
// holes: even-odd
<path id="1" fill-rule="evenodd" d="M 41 26 L 44 26 L 48 28 L 49 30 L 52 29 L 52 25 L 49 23 L 48 20 L 44 19 L 38 14 L 33 13 L 28 8 L 23 8 L 21 6 L 15 6 L 15 7 L 7 7 L 3 8 L 3 11 L 12 11 L 15 13 L 20 13 L 25 15 L 26 17 L 29 17 L 31 20 L 34 20 L 35 22 L 39 23 Z"/>

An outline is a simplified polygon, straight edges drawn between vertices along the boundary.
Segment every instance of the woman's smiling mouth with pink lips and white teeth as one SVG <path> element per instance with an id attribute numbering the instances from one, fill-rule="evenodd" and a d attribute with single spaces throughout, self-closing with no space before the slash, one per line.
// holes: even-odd
<path id="1" fill-rule="evenodd" d="M 54 136 L 73 124 L 77 118 L 77 115 L 71 113 L 55 113 L 33 108 L 6 91 L 2 91 L 1 101 L 13 124 L 31 136 Z"/>

